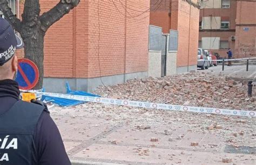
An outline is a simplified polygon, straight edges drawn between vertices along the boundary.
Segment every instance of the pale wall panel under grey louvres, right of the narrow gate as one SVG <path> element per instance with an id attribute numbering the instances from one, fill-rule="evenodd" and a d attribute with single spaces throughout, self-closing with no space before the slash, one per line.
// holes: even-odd
<path id="1" fill-rule="evenodd" d="M 169 52 L 166 55 L 166 76 L 176 74 L 177 52 Z"/>

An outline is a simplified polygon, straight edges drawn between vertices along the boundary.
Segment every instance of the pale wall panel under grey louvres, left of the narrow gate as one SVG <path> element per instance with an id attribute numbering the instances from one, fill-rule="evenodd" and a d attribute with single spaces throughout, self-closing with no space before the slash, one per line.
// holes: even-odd
<path id="1" fill-rule="evenodd" d="M 161 52 L 149 52 L 149 76 L 161 77 Z"/>

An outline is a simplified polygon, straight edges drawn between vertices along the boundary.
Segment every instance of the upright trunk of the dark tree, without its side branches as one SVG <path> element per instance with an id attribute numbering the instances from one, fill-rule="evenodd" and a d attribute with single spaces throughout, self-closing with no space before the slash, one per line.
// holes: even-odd
<path id="1" fill-rule="evenodd" d="M 23 28 L 19 33 L 24 41 L 25 58 L 35 62 L 39 70 L 39 81 L 34 89 L 43 88 L 44 35 L 39 19 L 39 0 L 26 0 L 22 14 Z"/>

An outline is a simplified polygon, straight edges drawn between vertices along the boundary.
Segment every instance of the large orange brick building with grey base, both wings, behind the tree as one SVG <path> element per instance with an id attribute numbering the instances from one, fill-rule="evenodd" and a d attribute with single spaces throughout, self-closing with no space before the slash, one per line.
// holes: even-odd
<path id="1" fill-rule="evenodd" d="M 21 18 L 24 1 L 9 1 Z M 41 14 L 58 2 L 41 0 Z M 150 61 L 149 25 L 163 27 L 164 33 L 179 33 L 177 51 L 169 52 L 166 75 L 196 69 L 199 9 L 197 1 L 192 2 L 81 0 L 45 35 L 44 88 L 65 92 L 68 81 L 72 89 L 92 91 L 99 85 L 150 76 L 150 68 L 156 66 Z M 18 55 L 22 58 L 24 52 Z"/>

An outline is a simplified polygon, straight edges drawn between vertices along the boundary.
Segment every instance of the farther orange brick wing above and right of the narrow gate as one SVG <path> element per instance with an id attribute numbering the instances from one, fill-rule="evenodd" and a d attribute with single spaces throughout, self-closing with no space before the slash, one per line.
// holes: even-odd
<path id="1" fill-rule="evenodd" d="M 157 4 L 151 0 L 151 5 Z M 176 73 L 197 68 L 199 9 L 198 1 L 162 1 L 158 8 L 151 8 L 150 24 L 163 27 L 163 33 L 177 30 L 178 51 Z"/>

